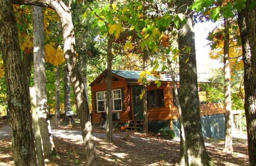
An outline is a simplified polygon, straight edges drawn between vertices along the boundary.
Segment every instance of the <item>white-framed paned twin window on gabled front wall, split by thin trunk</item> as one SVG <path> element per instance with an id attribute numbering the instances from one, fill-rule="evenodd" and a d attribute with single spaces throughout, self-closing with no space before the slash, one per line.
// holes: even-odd
<path id="1" fill-rule="evenodd" d="M 107 111 L 107 91 L 97 92 L 97 111 Z M 113 90 L 112 111 L 122 110 L 121 89 Z"/>

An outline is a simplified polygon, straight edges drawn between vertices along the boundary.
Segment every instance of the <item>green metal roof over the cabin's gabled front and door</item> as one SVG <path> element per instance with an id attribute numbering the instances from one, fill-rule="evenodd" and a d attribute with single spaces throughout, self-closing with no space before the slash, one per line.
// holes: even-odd
<path id="1" fill-rule="evenodd" d="M 123 77 L 125 79 L 139 79 L 141 72 L 142 71 L 112 70 L 113 74 L 116 74 L 116 75 L 118 75 L 120 77 Z M 147 78 L 148 81 L 155 81 L 155 80 L 157 80 L 156 77 L 149 76 L 149 75 L 147 75 L 147 76 L 148 76 L 148 78 Z"/>

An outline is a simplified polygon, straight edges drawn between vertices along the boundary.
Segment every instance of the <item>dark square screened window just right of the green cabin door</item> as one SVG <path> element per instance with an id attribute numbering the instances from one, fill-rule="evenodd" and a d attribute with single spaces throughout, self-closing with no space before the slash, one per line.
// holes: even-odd
<path id="1" fill-rule="evenodd" d="M 164 107 L 164 89 L 148 91 L 148 108 Z"/>

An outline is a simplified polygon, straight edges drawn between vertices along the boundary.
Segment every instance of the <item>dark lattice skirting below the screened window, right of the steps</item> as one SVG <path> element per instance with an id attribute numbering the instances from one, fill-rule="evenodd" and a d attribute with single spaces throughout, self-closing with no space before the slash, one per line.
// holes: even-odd
<path id="1" fill-rule="evenodd" d="M 148 131 L 158 133 L 160 129 L 170 129 L 169 120 L 149 120 Z"/>

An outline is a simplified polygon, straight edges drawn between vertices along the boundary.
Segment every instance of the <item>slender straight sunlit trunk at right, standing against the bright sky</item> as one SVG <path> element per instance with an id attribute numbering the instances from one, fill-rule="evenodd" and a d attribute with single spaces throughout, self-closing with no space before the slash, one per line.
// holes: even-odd
<path id="1" fill-rule="evenodd" d="M 225 145 L 222 153 L 233 153 L 232 145 L 232 114 L 231 114 L 231 81 L 229 68 L 229 34 L 228 19 L 224 18 L 226 40 L 224 41 L 224 91 L 225 91 Z"/>

